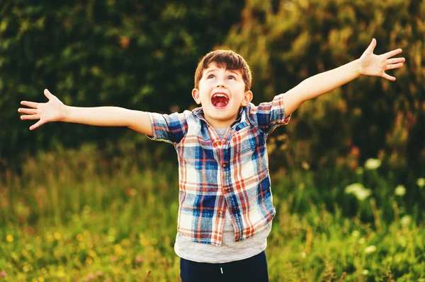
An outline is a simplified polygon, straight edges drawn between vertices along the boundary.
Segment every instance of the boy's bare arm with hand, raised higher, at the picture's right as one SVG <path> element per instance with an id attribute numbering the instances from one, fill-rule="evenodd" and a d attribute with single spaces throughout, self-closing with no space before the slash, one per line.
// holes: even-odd
<path id="1" fill-rule="evenodd" d="M 402 49 L 395 49 L 385 54 L 373 54 L 376 47 L 376 40 L 373 38 L 368 49 L 361 55 L 360 59 L 351 61 L 344 66 L 339 66 L 331 71 L 325 71 L 305 79 L 300 84 L 283 95 L 283 105 L 285 105 L 285 115 L 293 113 L 303 102 L 316 98 L 319 95 L 328 93 L 339 86 L 358 78 L 361 75 L 381 76 L 390 81 L 395 81 L 395 77 L 385 74 L 389 69 L 399 69 L 403 66 L 404 58 L 392 58 L 402 52 Z"/>

